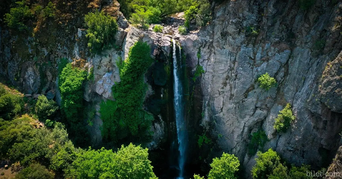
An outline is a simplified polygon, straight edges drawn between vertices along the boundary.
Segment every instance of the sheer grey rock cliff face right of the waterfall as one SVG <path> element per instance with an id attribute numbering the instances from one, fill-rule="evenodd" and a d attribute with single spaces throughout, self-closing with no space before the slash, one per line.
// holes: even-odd
<path id="1" fill-rule="evenodd" d="M 231 0 L 214 7 L 210 25 L 180 38 L 187 64 L 206 71 L 202 125 L 223 135 L 219 147 L 246 171 L 255 158 L 246 154 L 249 134 L 258 128 L 269 139 L 264 150 L 294 164 L 326 165 L 341 145 L 341 15 L 342 3 L 329 0 L 308 10 L 296 0 Z M 256 83 L 266 72 L 277 80 L 269 91 Z M 297 118 L 277 133 L 274 118 L 286 103 Z"/>

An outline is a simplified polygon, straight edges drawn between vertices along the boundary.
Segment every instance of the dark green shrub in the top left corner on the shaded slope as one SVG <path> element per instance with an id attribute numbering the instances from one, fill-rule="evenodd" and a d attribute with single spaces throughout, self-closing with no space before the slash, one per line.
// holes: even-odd
<path id="1" fill-rule="evenodd" d="M 19 29 L 20 31 L 26 30 L 25 21 L 32 17 L 30 8 L 26 5 L 26 1 L 15 2 L 17 7 L 11 8 L 9 14 L 5 14 L 4 21 L 8 27 Z"/>

